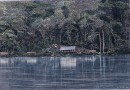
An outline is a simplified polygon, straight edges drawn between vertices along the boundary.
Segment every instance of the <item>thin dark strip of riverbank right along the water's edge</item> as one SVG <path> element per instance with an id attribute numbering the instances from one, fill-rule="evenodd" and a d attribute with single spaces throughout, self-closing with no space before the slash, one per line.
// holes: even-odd
<path id="1" fill-rule="evenodd" d="M 85 56 L 85 55 L 106 55 L 106 56 L 116 56 L 116 55 L 130 55 L 130 53 L 104 53 L 101 54 L 100 52 L 97 53 L 35 53 L 35 54 L 27 54 L 27 53 L 19 53 L 19 54 L 11 54 L 11 55 L 3 55 L 0 57 L 66 57 L 66 56 Z"/>

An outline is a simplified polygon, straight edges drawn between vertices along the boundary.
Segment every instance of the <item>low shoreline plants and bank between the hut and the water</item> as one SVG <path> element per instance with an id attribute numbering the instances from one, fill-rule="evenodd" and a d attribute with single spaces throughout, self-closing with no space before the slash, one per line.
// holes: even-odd
<path id="1" fill-rule="evenodd" d="M 120 54 L 130 54 L 130 50 L 118 51 L 118 52 L 97 52 L 95 50 L 87 50 L 88 52 L 62 52 L 59 50 L 53 51 L 45 51 L 45 52 L 15 52 L 15 53 L 8 53 L 8 52 L 0 52 L 0 57 L 39 57 L 39 56 L 50 56 L 50 57 L 61 57 L 61 56 L 82 56 L 82 55 L 120 55 Z M 94 52 L 93 52 L 94 51 Z"/>

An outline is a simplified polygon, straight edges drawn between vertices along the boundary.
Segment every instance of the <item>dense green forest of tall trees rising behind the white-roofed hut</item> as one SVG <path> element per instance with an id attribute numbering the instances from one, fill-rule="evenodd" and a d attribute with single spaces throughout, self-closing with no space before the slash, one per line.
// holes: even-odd
<path id="1" fill-rule="evenodd" d="M 45 52 L 53 44 L 130 53 L 128 0 L 0 2 L 0 51 Z"/>

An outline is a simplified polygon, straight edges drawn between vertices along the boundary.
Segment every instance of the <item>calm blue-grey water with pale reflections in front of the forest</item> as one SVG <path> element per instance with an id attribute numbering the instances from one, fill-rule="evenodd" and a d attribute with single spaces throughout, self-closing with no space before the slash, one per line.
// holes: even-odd
<path id="1" fill-rule="evenodd" d="M 0 90 L 130 90 L 130 56 L 0 58 Z"/>

